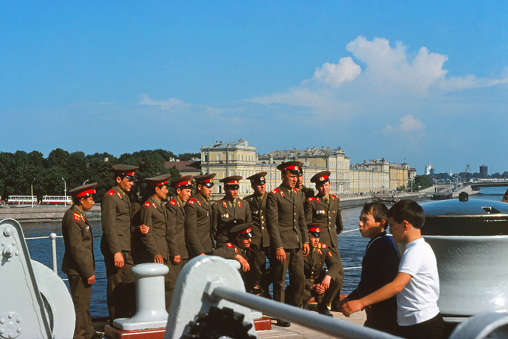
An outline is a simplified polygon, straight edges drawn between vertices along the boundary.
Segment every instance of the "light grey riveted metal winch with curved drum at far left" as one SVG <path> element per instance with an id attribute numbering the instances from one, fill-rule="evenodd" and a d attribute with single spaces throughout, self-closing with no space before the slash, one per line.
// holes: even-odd
<path id="1" fill-rule="evenodd" d="M 30 260 L 23 231 L 14 219 L 0 221 L 0 252 L 0 336 L 72 337 L 75 314 L 67 287 L 49 268 Z"/>

